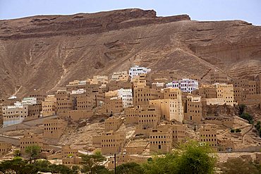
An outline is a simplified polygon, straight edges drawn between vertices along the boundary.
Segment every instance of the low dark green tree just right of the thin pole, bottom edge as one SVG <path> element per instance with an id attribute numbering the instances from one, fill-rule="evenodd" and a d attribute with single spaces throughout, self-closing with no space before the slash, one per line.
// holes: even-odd
<path id="1" fill-rule="evenodd" d="M 123 163 L 116 167 L 116 173 L 118 174 L 142 174 L 142 167 L 138 163 L 130 162 Z"/>

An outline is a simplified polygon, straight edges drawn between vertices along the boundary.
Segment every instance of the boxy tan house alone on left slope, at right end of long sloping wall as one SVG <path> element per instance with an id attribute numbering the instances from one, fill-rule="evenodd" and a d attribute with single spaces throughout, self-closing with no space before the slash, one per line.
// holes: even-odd
<path id="1" fill-rule="evenodd" d="M 44 138 L 59 139 L 66 129 L 67 122 L 62 119 L 44 120 Z"/>

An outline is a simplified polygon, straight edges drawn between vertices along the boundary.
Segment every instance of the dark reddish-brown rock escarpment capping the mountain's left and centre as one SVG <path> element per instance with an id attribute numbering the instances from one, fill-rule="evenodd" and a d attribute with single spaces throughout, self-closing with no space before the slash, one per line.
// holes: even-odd
<path id="1" fill-rule="evenodd" d="M 38 15 L 18 20 L 0 22 L 0 39 L 25 39 L 32 37 L 54 37 L 58 35 L 90 35 L 111 30 L 120 30 L 142 25 L 171 23 L 190 20 L 188 15 L 166 18 L 156 16 L 153 10 L 126 9 L 76 15 Z"/>

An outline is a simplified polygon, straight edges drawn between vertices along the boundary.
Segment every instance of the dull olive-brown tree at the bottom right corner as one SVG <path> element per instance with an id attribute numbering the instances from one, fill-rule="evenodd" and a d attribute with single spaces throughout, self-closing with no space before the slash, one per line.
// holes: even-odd
<path id="1" fill-rule="evenodd" d="M 260 172 L 254 163 L 240 158 L 228 159 L 226 163 L 221 163 L 219 168 L 224 174 L 258 174 Z"/>

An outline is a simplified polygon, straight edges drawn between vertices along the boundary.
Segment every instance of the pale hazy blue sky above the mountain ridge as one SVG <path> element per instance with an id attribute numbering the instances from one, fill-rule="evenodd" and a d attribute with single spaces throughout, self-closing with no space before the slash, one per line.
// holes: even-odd
<path id="1" fill-rule="evenodd" d="M 193 20 L 240 19 L 261 25 L 261 0 L 0 0 L 0 19 L 121 8 L 154 9 L 158 16 L 186 13 Z"/>

